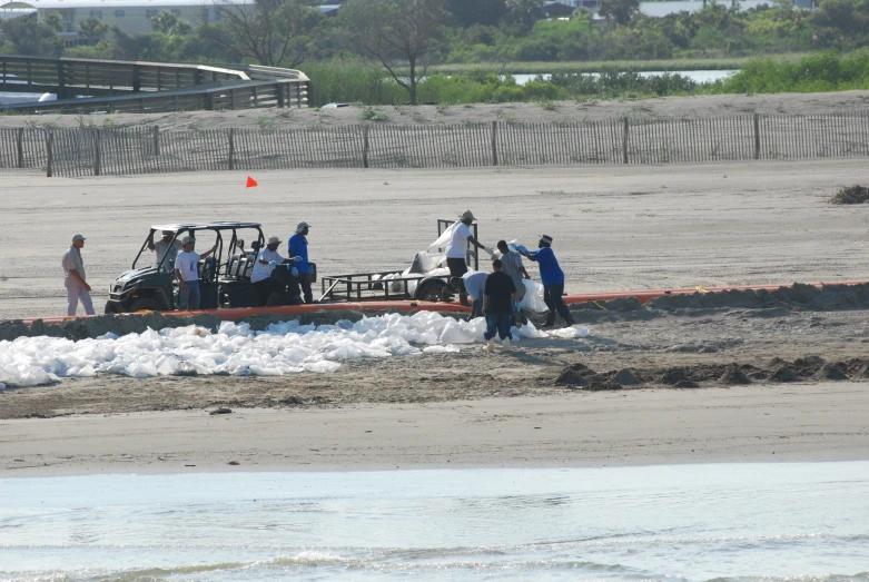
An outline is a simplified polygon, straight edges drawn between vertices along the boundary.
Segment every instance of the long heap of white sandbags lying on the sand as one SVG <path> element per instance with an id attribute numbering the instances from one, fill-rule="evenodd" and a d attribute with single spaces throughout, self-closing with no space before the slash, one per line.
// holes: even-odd
<path id="1" fill-rule="evenodd" d="M 343 319 L 335 325 L 300 325 L 298 320 L 255 332 L 248 324 L 224 322 L 217 332 L 200 326 L 148 329 L 121 337 L 72 342 L 59 337 L 20 337 L 0 342 L 0 384 L 36 386 L 59 377 L 120 374 L 134 378 L 170 375 L 283 376 L 328 373 L 340 362 L 452 354 L 456 344 L 483 341 L 485 320 L 456 320 L 438 313 L 387 314 Z M 529 324 L 520 337 L 584 337 L 585 328 L 551 333 Z"/>

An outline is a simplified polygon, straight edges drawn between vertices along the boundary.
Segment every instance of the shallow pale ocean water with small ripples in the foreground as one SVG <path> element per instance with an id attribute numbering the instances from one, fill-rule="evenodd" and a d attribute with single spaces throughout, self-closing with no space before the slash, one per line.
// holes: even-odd
<path id="1" fill-rule="evenodd" d="M 0 481 L 0 580 L 869 581 L 869 462 Z"/>

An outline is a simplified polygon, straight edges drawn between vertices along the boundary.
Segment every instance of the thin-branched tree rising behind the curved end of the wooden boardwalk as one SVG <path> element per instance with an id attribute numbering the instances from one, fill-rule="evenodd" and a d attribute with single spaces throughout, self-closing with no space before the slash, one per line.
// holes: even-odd
<path id="1" fill-rule="evenodd" d="M 229 52 L 267 67 L 297 67 L 308 52 L 306 31 L 323 14 L 313 0 L 254 0 L 251 4 L 218 3 L 223 34 L 214 37 Z"/>

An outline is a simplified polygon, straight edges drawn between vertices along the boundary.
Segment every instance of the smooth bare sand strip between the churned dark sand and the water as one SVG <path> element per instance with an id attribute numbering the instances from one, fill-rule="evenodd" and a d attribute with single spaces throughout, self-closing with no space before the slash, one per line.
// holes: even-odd
<path id="1" fill-rule="evenodd" d="M 866 460 L 867 413 L 820 383 L 3 421 L 0 476 Z"/>

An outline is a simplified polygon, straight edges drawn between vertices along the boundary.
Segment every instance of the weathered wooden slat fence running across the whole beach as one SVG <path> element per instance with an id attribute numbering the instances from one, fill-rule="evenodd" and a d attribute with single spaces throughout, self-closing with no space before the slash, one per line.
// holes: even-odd
<path id="1" fill-rule="evenodd" d="M 47 176 L 294 168 L 699 164 L 869 156 L 869 111 L 307 129 L 0 129 L 0 169 Z"/>

